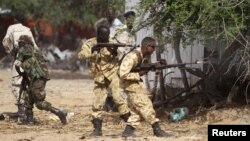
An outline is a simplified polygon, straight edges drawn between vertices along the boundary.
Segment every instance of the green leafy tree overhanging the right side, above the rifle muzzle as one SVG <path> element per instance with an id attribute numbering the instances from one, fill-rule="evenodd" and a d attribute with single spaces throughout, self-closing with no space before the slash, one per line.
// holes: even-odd
<path id="1" fill-rule="evenodd" d="M 224 62 L 218 64 L 223 74 L 220 77 L 234 69 L 233 75 L 238 77 L 235 81 L 250 80 L 249 0 L 143 0 L 138 10 L 141 15 L 149 14 L 138 28 L 152 25 L 160 43 L 172 43 L 178 63 L 182 63 L 181 43 L 185 47 L 193 39 L 204 44 L 211 39 L 220 40 L 227 49 L 222 57 Z M 188 89 L 186 72 L 180 71 Z"/>

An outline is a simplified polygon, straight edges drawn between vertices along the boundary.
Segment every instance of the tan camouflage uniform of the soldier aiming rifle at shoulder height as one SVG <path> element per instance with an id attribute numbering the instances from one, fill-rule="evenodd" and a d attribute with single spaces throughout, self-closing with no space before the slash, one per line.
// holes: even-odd
<path id="1" fill-rule="evenodd" d="M 118 106 L 121 115 L 129 112 L 125 100 L 120 95 L 118 60 L 107 48 L 102 48 L 99 53 L 91 53 L 91 47 L 97 43 L 96 38 L 87 40 L 78 54 L 80 60 L 89 59 L 91 73 L 94 77 L 94 94 L 92 116 L 101 119 L 102 108 L 107 97 L 107 88 L 112 90 L 114 102 Z"/>

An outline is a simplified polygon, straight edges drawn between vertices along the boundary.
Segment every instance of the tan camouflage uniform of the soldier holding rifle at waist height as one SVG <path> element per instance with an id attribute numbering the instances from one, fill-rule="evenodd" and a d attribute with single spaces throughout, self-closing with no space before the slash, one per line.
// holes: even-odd
<path id="1" fill-rule="evenodd" d="M 124 57 L 119 70 L 121 87 L 127 94 L 129 108 L 133 111 L 128 119 L 128 124 L 134 128 L 139 125 L 140 116 L 151 125 L 159 121 L 139 73 L 130 72 L 133 67 L 141 63 L 141 60 L 142 54 L 138 48 Z"/>

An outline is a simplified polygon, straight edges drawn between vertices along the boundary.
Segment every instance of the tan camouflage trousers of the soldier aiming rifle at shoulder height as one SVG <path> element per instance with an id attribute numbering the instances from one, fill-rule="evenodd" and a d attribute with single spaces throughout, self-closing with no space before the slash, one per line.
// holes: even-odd
<path id="1" fill-rule="evenodd" d="M 128 113 L 126 100 L 121 96 L 121 89 L 119 83 L 119 77 L 116 73 L 110 77 L 110 79 L 104 80 L 104 83 L 94 82 L 94 100 L 92 106 L 92 117 L 102 119 L 103 106 L 107 97 L 107 89 L 110 88 L 111 94 L 115 104 L 118 107 L 118 111 L 121 115 Z"/>

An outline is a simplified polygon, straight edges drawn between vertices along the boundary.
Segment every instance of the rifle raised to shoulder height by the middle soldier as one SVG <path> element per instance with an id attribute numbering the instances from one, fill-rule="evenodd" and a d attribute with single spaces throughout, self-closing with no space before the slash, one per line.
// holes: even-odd
<path id="1" fill-rule="evenodd" d="M 100 51 L 100 49 L 107 47 L 108 49 L 115 50 L 118 47 L 139 47 L 139 45 L 119 44 L 119 43 L 97 43 L 91 48 L 91 51 Z"/>

